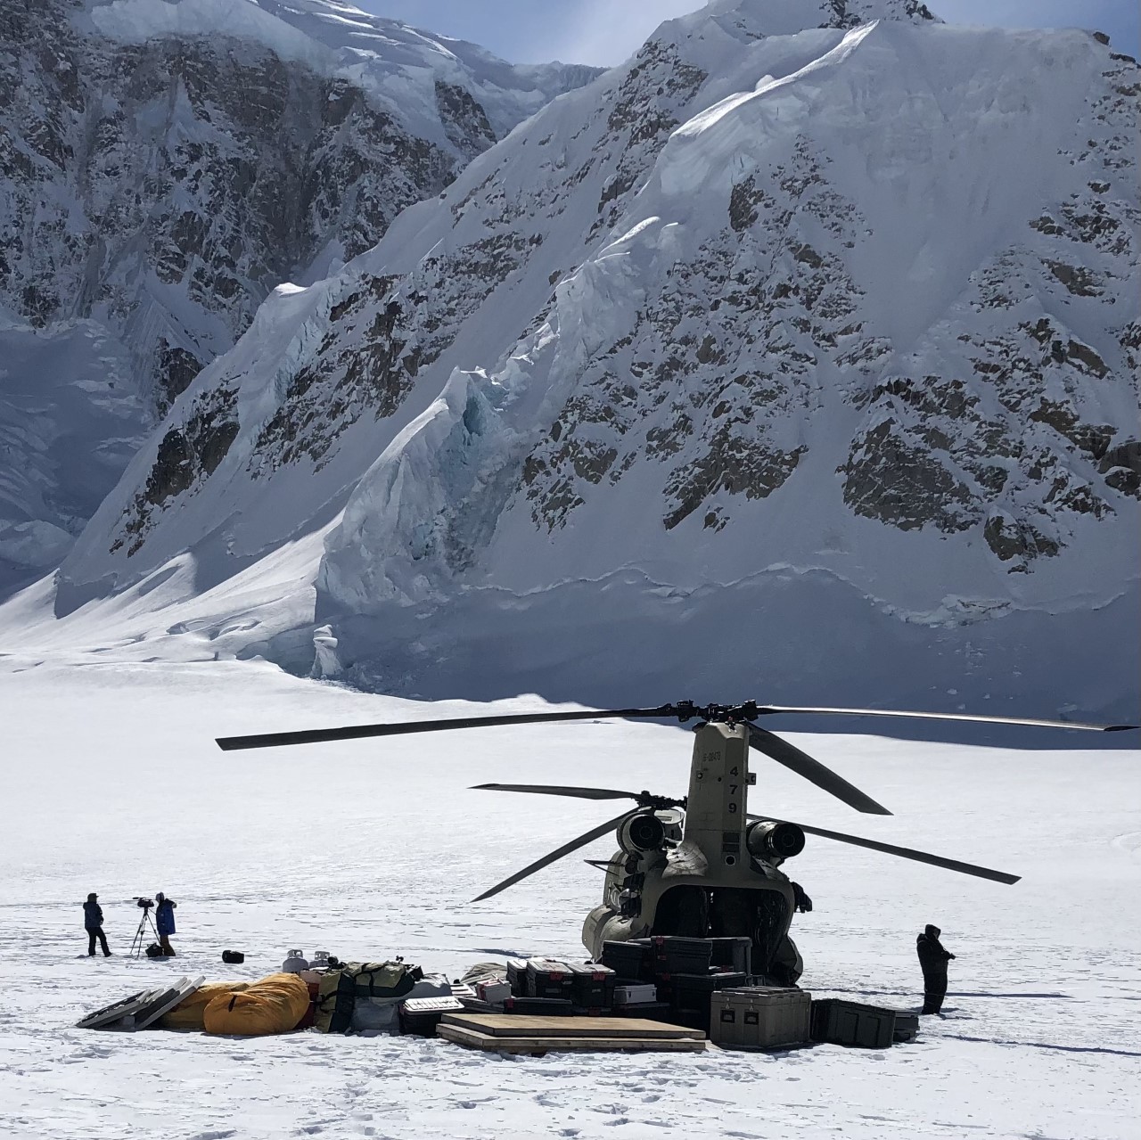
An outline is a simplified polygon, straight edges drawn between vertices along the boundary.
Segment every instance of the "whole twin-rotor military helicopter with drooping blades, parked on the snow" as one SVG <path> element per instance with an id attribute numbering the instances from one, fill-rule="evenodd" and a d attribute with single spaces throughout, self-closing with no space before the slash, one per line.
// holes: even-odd
<path id="1" fill-rule="evenodd" d="M 608 787 L 568 787 L 548 784 L 478 784 L 477 790 L 563 795 L 586 800 L 634 801 L 613 819 L 592 827 L 521 871 L 496 883 L 474 899 L 482 902 L 542 871 L 607 832 L 617 835 L 617 852 L 608 860 L 588 859 L 606 871 L 602 902 L 586 916 L 583 945 L 591 957 L 601 957 L 605 941 L 623 941 L 648 935 L 695 938 L 748 937 L 756 973 L 779 985 L 795 984 L 803 969 L 796 946 L 788 937 L 793 914 L 811 906 L 799 884 L 782 871 L 786 859 L 804 849 L 806 835 L 834 840 L 926 863 L 947 871 L 994 882 L 1017 883 L 1019 875 L 980 867 L 908 847 L 896 847 L 808 824 L 755 815 L 747 810 L 747 791 L 756 784 L 750 770 L 750 750 L 775 760 L 857 811 L 891 815 L 865 792 L 801 751 L 762 728 L 762 717 L 796 713 L 808 715 L 893 717 L 920 720 L 968 721 L 986 725 L 1020 725 L 1084 731 L 1122 731 L 1134 725 L 1087 725 L 1073 721 L 977 717 L 968 713 L 903 712 L 883 709 L 796 708 L 758 704 L 697 705 L 690 701 L 656 709 L 608 709 L 582 712 L 515 713 L 499 717 L 464 717 L 406 721 L 394 725 L 356 725 L 346 728 L 267 733 L 218 739 L 225 751 L 315 744 L 406 733 L 434 733 L 459 728 L 491 728 L 607 718 L 695 721 L 689 791 L 685 799 L 650 792 Z"/>

